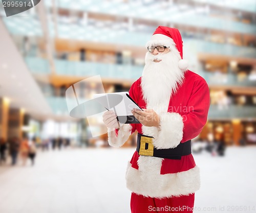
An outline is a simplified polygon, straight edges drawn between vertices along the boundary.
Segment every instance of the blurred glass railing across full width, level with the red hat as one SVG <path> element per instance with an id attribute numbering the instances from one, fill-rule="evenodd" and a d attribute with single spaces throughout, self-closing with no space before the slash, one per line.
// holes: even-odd
<path id="1" fill-rule="evenodd" d="M 40 22 L 37 19 L 33 19 L 31 22 L 23 24 L 23 20 L 20 19 L 4 19 L 8 31 L 13 35 L 20 36 L 42 36 L 40 30 Z M 201 22 L 201 21 L 195 21 Z M 154 32 L 154 29 L 151 30 Z M 256 27 L 252 34 L 256 34 Z M 249 33 L 249 32 L 248 32 Z M 125 29 L 111 29 L 110 27 L 97 28 L 95 26 L 82 26 L 69 23 L 58 24 L 58 38 L 71 39 L 71 40 L 83 40 L 92 42 L 103 42 L 111 44 L 121 45 L 133 45 L 144 46 L 145 43 L 151 38 L 152 33 L 129 31 Z M 189 37 L 187 37 L 189 36 Z M 199 38 L 200 37 L 200 38 Z M 196 53 L 209 53 L 225 56 L 236 57 L 249 57 L 256 58 L 256 48 L 250 48 L 247 46 L 237 46 L 227 43 L 209 42 L 211 35 L 199 36 L 189 35 L 184 33 L 184 53 L 190 54 L 186 51 L 193 49 L 193 54 Z M 40 51 L 38 51 L 40 52 Z"/>

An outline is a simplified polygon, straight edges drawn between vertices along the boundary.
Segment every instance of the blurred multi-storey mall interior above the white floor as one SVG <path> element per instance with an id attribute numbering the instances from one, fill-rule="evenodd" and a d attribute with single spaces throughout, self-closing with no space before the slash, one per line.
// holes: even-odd
<path id="1" fill-rule="evenodd" d="M 106 92 L 128 91 L 142 74 L 146 41 L 163 25 L 180 30 L 189 69 L 210 88 L 208 122 L 197 140 L 255 144 L 256 6 L 240 3 L 48 0 L 11 17 L 2 9 L 1 137 L 97 146 L 106 135 L 92 138 L 90 131 L 104 127 L 69 116 L 67 88 L 100 75 Z M 79 86 L 81 98 L 97 92 L 97 82 Z M 125 146 L 133 144 L 130 138 Z"/>

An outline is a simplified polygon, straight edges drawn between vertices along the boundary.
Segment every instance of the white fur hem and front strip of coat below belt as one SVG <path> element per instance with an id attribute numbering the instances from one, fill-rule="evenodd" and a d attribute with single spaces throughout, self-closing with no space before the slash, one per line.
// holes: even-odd
<path id="1" fill-rule="evenodd" d="M 141 163 L 141 160 L 144 162 Z M 200 171 L 197 166 L 188 171 L 161 175 L 162 158 L 140 156 L 138 164 L 139 170 L 136 170 L 129 162 L 126 171 L 126 186 L 138 195 L 164 198 L 189 195 L 200 188 Z"/>

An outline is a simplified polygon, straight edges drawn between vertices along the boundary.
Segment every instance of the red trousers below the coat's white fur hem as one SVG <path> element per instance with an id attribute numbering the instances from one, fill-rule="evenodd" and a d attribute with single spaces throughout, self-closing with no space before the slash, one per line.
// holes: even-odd
<path id="1" fill-rule="evenodd" d="M 132 213 L 147 213 L 147 212 L 193 212 L 195 201 L 195 193 L 172 198 L 150 198 L 143 195 L 132 193 L 131 196 L 131 211 Z"/>

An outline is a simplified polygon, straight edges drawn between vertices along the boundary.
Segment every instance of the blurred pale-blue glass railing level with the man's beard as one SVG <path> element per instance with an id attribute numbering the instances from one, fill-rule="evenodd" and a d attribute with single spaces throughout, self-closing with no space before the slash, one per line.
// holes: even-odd
<path id="1" fill-rule="evenodd" d="M 27 57 L 27 65 L 34 74 L 50 74 L 48 60 L 41 58 Z M 101 78 L 115 80 L 134 81 L 138 79 L 143 71 L 143 66 L 125 64 L 105 64 L 95 62 L 81 62 L 68 60 L 55 60 L 57 75 L 90 77 L 100 75 Z M 209 85 L 229 85 L 229 86 L 256 86 L 256 80 L 249 80 L 249 76 L 239 79 L 238 75 L 198 72 Z M 254 78 L 255 79 L 255 78 Z"/>

